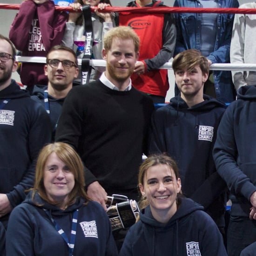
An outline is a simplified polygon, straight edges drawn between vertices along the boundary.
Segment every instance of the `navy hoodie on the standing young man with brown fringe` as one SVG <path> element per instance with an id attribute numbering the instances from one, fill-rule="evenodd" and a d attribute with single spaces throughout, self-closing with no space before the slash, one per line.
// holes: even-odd
<path id="1" fill-rule="evenodd" d="M 216 172 L 212 150 L 225 104 L 208 95 L 190 107 L 176 96 L 152 116 L 149 152 L 166 152 L 178 164 L 182 192 L 202 204 L 224 226 L 225 182 Z"/>

